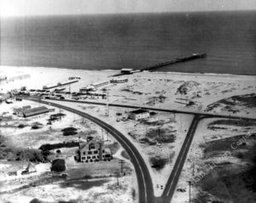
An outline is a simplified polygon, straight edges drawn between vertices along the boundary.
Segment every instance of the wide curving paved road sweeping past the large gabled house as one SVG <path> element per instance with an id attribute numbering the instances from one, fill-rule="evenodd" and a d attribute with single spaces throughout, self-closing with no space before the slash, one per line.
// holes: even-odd
<path id="1" fill-rule="evenodd" d="M 38 99 L 28 99 L 28 100 L 38 102 Z M 89 114 L 86 114 L 80 110 L 74 110 L 70 107 L 67 107 L 61 104 L 51 103 L 49 101 L 40 100 L 40 103 L 49 104 L 57 108 L 61 108 L 63 110 L 71 111 L 79 116 L 83 116 L 84 118 L 87 118 L 90 121 L 95 122 L 100 127 L 104 128 L 106 131 L 108 131 L 108 133 L 112 134 L 113 137 L 116 138 L 116 140 L 119 142 L 119 144 L 121 144 L 122 147 L 126 150 L 126 152 L 131 158 L 131 162 L 135 167 L 135 171 L 137 173 L 138 190 L 139 190 L 139 202 L 154 203 L 154 189 L 153 189 L 153 184 L 152 184 L 150 174 L 148 172 L 148 167 L 143 161 L 142 155 L 140 155 L 136 147 L 133 144 L 131 144 L 128 138 L 125 138 L 125 136 L 122 133 L 120 133 L 114 127 L 108 125 L 108 123 L 94 116 L 90 116 Z"/>

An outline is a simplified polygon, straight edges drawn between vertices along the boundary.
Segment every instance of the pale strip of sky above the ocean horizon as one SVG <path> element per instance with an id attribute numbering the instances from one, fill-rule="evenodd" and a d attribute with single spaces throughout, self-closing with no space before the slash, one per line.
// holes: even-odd
<path id="1" fill-rule="evenodd" d="M 1 16 L 256 10 L 256 0 L 0 0 Z"/>

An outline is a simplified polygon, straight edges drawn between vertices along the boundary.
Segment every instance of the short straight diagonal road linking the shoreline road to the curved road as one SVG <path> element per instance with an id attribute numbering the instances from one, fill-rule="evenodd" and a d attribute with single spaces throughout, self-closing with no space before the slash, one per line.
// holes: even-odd
<path id="1" fill-rule="evenodd" d="M 203 118 L 203 116 L 198 116 L 198 115 L 194 116 L 193 121 L 189 127 L 187 136 L 183 142 L 183 146 L 179 152 L 179 155 L 177 156 L 177 161 L 176 161 L 175 165 L 173 166 L 171 176 L 169 177 L 169 179 L 166 183 L 166 188 L 163 192 L 163 195 L 159 199 L 159 202 L 163 202 L 163 203 L 171 202 L 172 196 L 173 196 L 176 186 L 177 186 L 177 181 L 178 181 L 179 176 L 183 170 L 184 162 L 186 161 L 186 157 L 189 153 L 189 147 L 190 147 L 190 144 L 192 143 L 196 127 L 197 127 L 199 121 L 201 120 L 201 118 Z"/>

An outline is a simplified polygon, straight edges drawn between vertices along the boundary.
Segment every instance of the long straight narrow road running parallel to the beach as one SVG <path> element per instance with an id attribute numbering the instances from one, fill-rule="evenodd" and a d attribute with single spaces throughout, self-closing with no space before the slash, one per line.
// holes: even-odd
<path id="1" fill-rule="evenodd" d="M 48 99 L 44 99 L 48 100 Z M 73 100 L 73 99 L 49 99 L 55 100 L 55 101 L 67 101 L 67 102 L 73 102 L 73 103 L 82 103 L 82 104 L 95 104 L 95 105 L 106 105 L 106 103 L 103 102 L 90 102 L 90 101 L 79 101 L 79 100 Z M 126 104 L 108 104 L 109 106 L 116 106 L 116 107 L 123 107 L 123 108 L 130 108 L 130 109 L 139 109 L 143 108 L 144 110 L 158 110 L 158 111 L 164 111 L 164 112 L 170 112 L 175 114 L 189 114 L 189 115 L 197 115 L 197 116 L 207 116 L 207 117 L 219 117 L 219 118 L 230 118 L 230 119 L 247 119 L 247 120 L 254 120 L 256 121 L 256 118 L 252 117 L 243 117 L 243 116 L 234 116 L 234 115 L 227 115 L 227 114 L 212 114 L 212 113 L 206 113 L 206 112 L 196 112 L 192 110 L 167 110 L 167 109 L 160 109 L 160 108 L 153 108 L 153 107 L 144 107 L 144 106 L 136 106 L 136 105 L 126 105 Z"/>

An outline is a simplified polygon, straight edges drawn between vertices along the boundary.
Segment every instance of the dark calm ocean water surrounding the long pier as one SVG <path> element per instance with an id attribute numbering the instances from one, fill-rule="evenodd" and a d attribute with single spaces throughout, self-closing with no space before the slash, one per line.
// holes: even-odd
<path id="1" fill-rule="evenodd" d="M 1 20 L 0 65 L 256 75 L 256 11 L 41 16 Z"/>

